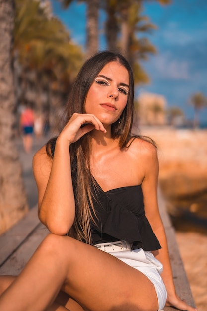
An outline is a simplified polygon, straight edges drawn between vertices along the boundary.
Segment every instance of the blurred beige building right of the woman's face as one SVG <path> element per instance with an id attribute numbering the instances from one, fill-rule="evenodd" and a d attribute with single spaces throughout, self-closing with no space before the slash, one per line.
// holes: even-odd
<path id="1" fill-rule="evenodd" d="M 141 93 L 138 97 L 138 118 L 140 125 L 167 124 L 166 99 L 162 95 Z"/>

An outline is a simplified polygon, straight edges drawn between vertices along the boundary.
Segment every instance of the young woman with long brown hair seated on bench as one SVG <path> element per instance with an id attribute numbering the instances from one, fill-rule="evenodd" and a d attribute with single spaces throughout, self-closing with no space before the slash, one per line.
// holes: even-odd
<path id="1" fill-rule="evenodd" d="M 83 65 L 60 135 L 33 160 L 51 234 L 17 278 L 1 277 L 1 311 L 157 311 L 166 300 L 196 310 L 175 293 L 156 148 L 131 134 L 133 97 L 122 55 L 101 52 Z"/>

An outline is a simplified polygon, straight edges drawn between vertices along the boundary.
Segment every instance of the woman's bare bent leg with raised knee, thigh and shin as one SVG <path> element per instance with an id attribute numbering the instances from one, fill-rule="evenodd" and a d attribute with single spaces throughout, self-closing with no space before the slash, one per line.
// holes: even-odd
<path id="1" fill-rule="evenodd" d="M 3 293 L 0 310 L 44 311 L 61 288 L 84 310 L 158 310 L 154 286 L 141 272 L 95 247 L 54 234 Z"/>

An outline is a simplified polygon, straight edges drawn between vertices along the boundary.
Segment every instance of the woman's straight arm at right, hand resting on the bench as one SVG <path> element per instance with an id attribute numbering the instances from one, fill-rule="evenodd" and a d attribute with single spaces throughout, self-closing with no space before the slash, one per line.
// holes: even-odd
<path id="1" fill-rule="evenodd" d="M 195 311 L 195 308 L 188 306 L 175 292 L 166 234 L 158 209 L 157 185 L 159 165 L 157 151 L 153 145 L 148 145 L 148 147 L 144 149 L 143 159 L 145 176 L 142 183 L 142 190 L 144 195 L 145 213 L 153 232 L 157 236 L 162 247 L 157 251 L 153 251 L 153 254 L 163 265 L 162 279 L 167 290 L 166 305 L 173 305 L 180 310 Z"/>

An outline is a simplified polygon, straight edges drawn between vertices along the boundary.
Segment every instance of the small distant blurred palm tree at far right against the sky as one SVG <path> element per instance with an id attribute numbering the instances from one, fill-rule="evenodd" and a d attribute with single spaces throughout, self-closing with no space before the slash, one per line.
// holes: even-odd
<path id="1" fill-rule="evenodd" d="M 199 126 L 199 110 L 207 107 L 207 98 L 201 92 L 191 95 L 189 102 L 194 107 L 194 128 Z"/>

